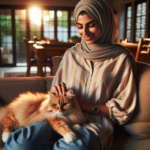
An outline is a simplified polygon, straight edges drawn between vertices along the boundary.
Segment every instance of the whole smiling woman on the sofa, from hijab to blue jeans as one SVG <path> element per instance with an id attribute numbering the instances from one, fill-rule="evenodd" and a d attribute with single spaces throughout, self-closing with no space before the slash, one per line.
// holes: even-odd
<path id="1" fill-rule="evenodd" d="M 109 150 L 113 122 L 126 123 L 136 104 L 136 67 L 124 47 L 112 44 L 115 21 L 102 0 L 82 0 L 74 18 L 81 43 L 64 54 L 51 90 L 64 94 L 73 89 L 91 123 L 77 131 L 78 140 L 67 144 L 48 122 L 35 123 L 12 133 L 5 149 Z"/>

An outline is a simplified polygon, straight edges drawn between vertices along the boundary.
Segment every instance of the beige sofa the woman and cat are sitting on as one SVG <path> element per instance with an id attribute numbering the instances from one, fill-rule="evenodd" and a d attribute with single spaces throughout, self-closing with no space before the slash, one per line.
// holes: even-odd
<path id="1" fill-rule="evenodd" d="M 137 62 L 137 68 L 136 109 L 128 123 L 115 125 L 111 150 L 150 150 L 150 66 Z M 54 76 L 0 78 L 0 103 L 8 104 L 20 93 L 27 91 L 46 93 L 53 78 Z M 0 138 L 0 150 L 3 147 Z"/>

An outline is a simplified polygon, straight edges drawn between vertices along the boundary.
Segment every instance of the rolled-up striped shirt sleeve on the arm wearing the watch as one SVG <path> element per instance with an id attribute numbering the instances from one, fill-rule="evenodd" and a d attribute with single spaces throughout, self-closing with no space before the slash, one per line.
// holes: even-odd
<path id="1" fill-rule="evenodd" d="M 132 116 L 136 105 L 136 84 L 130 60 L 125 60 L 125 68 L 112 99 L 106 102 L 110 118 L 119 124 L 126 123 Z"/>

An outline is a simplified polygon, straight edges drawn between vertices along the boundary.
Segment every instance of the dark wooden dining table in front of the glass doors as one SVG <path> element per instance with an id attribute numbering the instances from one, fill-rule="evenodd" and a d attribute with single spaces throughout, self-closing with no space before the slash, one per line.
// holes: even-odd
<path id="1" fill-rule="evenodd" d="M 50 43 L 42 43 L 41 41 L 37 41 L 36 43 L 33 43 L 31 41 L 28 42 L 31 44 L 31 51 L 36 55 L 37 58 L 37 75 L 43 76 L 43 63 L 47 58 L 52 58 L 53 56 L 63 56 L 65 51 L 74 44 L 50 44 Z"/>

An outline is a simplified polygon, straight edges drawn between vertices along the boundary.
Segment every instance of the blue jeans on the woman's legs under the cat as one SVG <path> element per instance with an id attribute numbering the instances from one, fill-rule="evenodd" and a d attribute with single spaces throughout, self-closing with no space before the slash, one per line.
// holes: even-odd
<path id="1" fill-rule="evenodd" d="M 75 133 L 78 139 L 68 144 L 47 121 L 37 122 L 11 133 L 5 150 L 100 150 L 99 138 L 95 133 L 86 128 Z"/>

